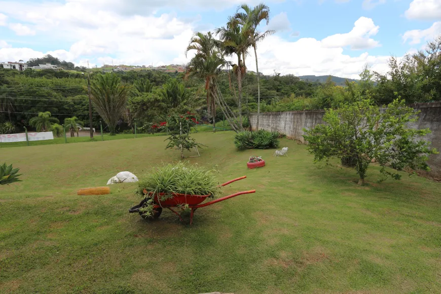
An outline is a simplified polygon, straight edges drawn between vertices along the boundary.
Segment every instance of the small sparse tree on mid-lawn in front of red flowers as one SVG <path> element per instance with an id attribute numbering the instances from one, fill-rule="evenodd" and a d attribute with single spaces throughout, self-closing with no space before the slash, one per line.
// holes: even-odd
<path id="1" fill-rule="evenodd" d="M 190 151 L 195 147 L 204 146 L 190 137 L 191 128 L 196 124 L 196 118 L 191 116 L 191 114 L 187 114 L 187 116 L 171 115 L 167 118 L 167 124 L 165 126 L 167 132 L 171 134 L 170 137 L 166 139 L 169 142 L 165 149 L 177 147 L 180 150 L 181 159 L 184 158 L 184 149 Z"/>

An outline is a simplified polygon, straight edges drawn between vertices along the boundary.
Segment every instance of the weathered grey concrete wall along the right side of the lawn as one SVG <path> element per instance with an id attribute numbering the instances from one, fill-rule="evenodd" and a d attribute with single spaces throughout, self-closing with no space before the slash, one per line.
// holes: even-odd
<path id="1" fill-rule="evenodd" d="M 413 128 L 429 128 L 432 132 L 424 137 L 432 142 L 432 147 L 441 151 L 441 102 L 415 103 L 414 107 L 420 114 L 418 121 L 412 123 Z M 260 117 L 260 129 L 278 131 L 287 137 L 305 142 L 303 128 L 310 129 L 317 124 L 323 123 L 324 111 L 296 111 L 281 113 L 262 113 Z M 255 127 L 257 114 L 251 114 L 251 125 Z M 430 156 L 429 166 L 431 171 L 425 175 L 441 180 L 441 154 Z"/>

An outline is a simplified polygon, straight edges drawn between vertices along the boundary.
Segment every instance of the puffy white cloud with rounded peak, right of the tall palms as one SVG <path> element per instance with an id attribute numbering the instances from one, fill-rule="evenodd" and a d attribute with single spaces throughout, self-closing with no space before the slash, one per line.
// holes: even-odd
<path id="1" fill-rule="evenodd" d="M 350 32 L 330 35 L 323 39 L 322 43 L 328 48 L 350 46 L 353 50 L 378 47 L 380 46 L 379 42 L 370 36 L 376 35 L 379 28 L 371 18 L 360 17 Z"/>

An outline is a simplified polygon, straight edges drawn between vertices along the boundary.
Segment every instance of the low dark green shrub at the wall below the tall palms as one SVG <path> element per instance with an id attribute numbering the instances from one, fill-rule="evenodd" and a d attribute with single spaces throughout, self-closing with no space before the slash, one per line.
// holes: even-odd
<path id="1" fill-rule="evenodd" d="M 269 149 L 279 147 L 279 133 L 259 130 L 256 132 L 243 131 L 234 137 L 237 149 Z"/>

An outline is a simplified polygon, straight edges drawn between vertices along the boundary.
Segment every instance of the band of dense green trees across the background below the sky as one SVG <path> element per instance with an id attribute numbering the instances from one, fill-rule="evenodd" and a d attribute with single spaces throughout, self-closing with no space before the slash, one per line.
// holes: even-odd
<path id="1" fill-rule="evenodd" d="M 321 83 L 320 80 L 303 81 L 293 75 L 262 76 L 261 111 L 338 107 L 341 103 L 350 103 L 367 95 L 378 104 L 387 104 L 397 97 L 408 103 L 439 101 L 440 45 L 441 38 L 438 38 L 436 42 L 428 44 L 427 51 L 407 56 L 401 62 L 392 57 L 387 75 L 366 68 L 360 74 L 360 81 L 345 80 L 343 86 L 333 81 L 335 77 L 327 77 Z M 34 61 L 30 60 L 29 64 L 31 62 Z M 64 65 L 68 63 L 59 62 Z M 90 73 L 92 83 L 99 75 L 102 73 Z M 199 117 L 210 120 L 206 83 L 197 76 L 159 70 L 120 71 L 106 75 L 117 75 L 128 90 L 126 110 L 119 123 L 121 130 L 133 127 L 135 119 L 138 126 L 149 125 L 164 121 L 171 113 L 196 112 Z M 89 126 L 87 76 L 88 73 L 79 71 L 27 69 L 20 72 L 0 69 L 0 124 L 12 123 L 13 131 L 23 131 L 23 126 L 32 129 L 29 126 L 31 118 L 40 112 L 50 112 L 60 124 L 65 118 L 75 116 Z M 237 113 L 237 81 L 234 73 L 224 70 L 216 85 L 228 107 Z M 242 113 L 255 112 L 258 83 L 253 73 L 245 74 L 242 91 Z M 216 120 L 222 118 L 223 114 L 217 112 Z M 96 109 L 93 109 L 93 127 L 98 127 L 100 120 Z"/>

